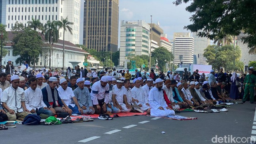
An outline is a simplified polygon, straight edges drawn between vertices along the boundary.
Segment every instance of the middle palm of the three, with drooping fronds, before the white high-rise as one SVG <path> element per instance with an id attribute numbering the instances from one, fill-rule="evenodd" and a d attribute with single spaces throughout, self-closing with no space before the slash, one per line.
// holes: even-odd
<path id="1" fill-rule="evenodd" d="M 53 43 L 56 43 L 59 39 L 59 30 L 58 30 L 58 22 L 49 20 L 44 25 L 44 32 L 45 32 L 45 41 L 49 42 L 50 49 L 49 49 L 49 68 L 51 67 L 51 50 Z"/>

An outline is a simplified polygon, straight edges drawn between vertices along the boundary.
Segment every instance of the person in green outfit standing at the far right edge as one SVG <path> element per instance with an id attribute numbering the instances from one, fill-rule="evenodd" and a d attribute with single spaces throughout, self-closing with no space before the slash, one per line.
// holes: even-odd
<path id="1" fill-rule="evenodd" d="M 248 94 L 250 94 L 250 103 L 254 103 L 254 91 L 256 90 L 256 77 L 254 74 L 252 74 L 253 69 L 248 70 L 248 75 L 245 76 L 244 78 L 244 83 L 243 83 L 243 89 L 244 89 L 244 98 L 243 102 L 248 98 Z"/>

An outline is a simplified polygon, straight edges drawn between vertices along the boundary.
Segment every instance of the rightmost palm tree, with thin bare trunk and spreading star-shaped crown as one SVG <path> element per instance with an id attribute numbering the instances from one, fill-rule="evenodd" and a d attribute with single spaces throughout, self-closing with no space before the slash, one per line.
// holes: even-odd
<path id="1" fill-rule="evenodd" d="M 61 17 L 61 21 L 58 21 L 58 24 L 59 24 L 59 30 L 61 28 L 63 28 L 63 60 L 62 60 L 62 67 L 64 68 L 65 67 L 65 31 L 69 31 L 70 34 L 72 35 L 72 28 L 69 27 L 69 25 L 73 25 L 74 23 L 72 22 L 69 22 L 68 21 L 68 16 L 63 19 L 63 17 Z"/>

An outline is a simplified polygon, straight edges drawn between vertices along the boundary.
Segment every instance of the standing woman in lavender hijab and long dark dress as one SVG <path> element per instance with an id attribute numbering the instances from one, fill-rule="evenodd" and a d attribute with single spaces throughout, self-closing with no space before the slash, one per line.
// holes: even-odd
<path id="1" fill-rule="evenodd" d="M 231 87 L 230 87 L 230 94 L 229 94 L 229 97 L 234 100 L 237 100 L 239 98 L 239 91 L 238 91 L 238 87 L 236 86 L 236 81 L 239 82 L 239 78 L 237 77 L 237 73 L 234 72 L 230 77 Z"/>

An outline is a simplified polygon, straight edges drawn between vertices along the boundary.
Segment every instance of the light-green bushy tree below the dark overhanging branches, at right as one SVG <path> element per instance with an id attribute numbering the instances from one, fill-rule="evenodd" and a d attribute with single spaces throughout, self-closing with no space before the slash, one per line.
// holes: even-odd
<path id="1" fill-rule="evenodd" d="M 236 46 L 235 50 L 232 45 L 216 46 L 209 45 L 204 50 L 204 57 L 214 69 L 219 70 L 224 67 L 225 70 L 243 70 L 244 64 L 240 61 L 242 56 L 241 48 Z M 235 62 L 235 64 L 234 64 Z"/>

